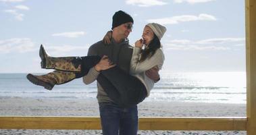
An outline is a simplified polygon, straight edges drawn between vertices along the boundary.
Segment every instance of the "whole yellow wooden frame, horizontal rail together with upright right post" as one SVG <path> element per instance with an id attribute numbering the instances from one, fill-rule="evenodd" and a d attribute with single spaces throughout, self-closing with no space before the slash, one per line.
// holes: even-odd
<path id="1" fill-rule="evenodd" d="M 247 130 L 256 134 L 256 1 L 245 0 L 247 117 L 140 117 L 139 130 Z M 99 117 L 1 116 L 0 129 L 99 130 Z"/>

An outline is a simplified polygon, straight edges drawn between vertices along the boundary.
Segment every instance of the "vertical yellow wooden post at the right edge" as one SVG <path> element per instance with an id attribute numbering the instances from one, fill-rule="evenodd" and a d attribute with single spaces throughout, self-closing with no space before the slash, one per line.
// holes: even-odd
<path id="1" fill-rule="evenodd" d="M 247 134 L 256 134 L 256 1 L 245 1 L 247 53 Z"/>

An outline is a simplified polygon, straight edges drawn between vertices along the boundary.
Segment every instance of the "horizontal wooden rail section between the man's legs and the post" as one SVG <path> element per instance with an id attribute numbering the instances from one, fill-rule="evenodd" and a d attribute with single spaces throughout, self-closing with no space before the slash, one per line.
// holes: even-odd
<path id="1" fill-rule="evenodd" d="M 140 130 L 246 130 L 244 117 L 140 118 Z"/>

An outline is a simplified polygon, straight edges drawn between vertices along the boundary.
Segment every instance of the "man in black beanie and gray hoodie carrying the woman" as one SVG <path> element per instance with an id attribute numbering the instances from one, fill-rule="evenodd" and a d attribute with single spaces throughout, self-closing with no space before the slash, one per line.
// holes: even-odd
<path id="1" fill-rule="evenodd" d="M 88 55 L 107 55 L 111 62 L 118 65 L 122 70 L 129 72 L 130 60 L 132 57 L 132 47 L 129 45 L 128 36 L 132 32 L 133 19 L 124 11 L 117 11 L 113 15 L 112 22 L 112 39 L 110 45 L 105 45 L 99 41 L 92 45 L 88 50 Z M 109 62 L 101 59 L 94 68 L 89 70 L 88 74 L 83 77 L 85 84 L 91 84 L 100 74 L 101 70 L 108 67 Z M 147 72 L 149 78 L 159 79 L 157 70 L 151 69 Z M 101 115 L 101 127 L 103 135 L 135 135 L 138 130 L 138 109 L 137 105 L 132 107 L 120 107 L 114 103 L 97 83 L 99 102 L 99 112 Z"/>

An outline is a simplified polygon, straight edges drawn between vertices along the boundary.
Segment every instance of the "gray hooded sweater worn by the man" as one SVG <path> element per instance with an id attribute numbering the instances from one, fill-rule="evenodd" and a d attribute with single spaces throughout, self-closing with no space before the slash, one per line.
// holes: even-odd
<path id="1" fill-rule="evenodd" d="M 103 41 L 99 41 L 88 49 L 88 56 L 90 55 L 107 55 L 113 63 L 116 63 L 122 70 L 129 73 L 130 71 L 130 60 L 132 58 L 132 47 L 129 45 L 129 41 L 126 40 L 122 43 L 116 43 L 111 41 L 111 45 L 105 45 Z M 85 84 L 91 84 L 99 76 L 99 72 L 95 68 L 91 68 L 86 76 L 84 76 L 83 82 Z M 97 99 L 99 103 L 112 102 L 107 93 L 103 90 L 101 85 L 97 82 Z"/>

